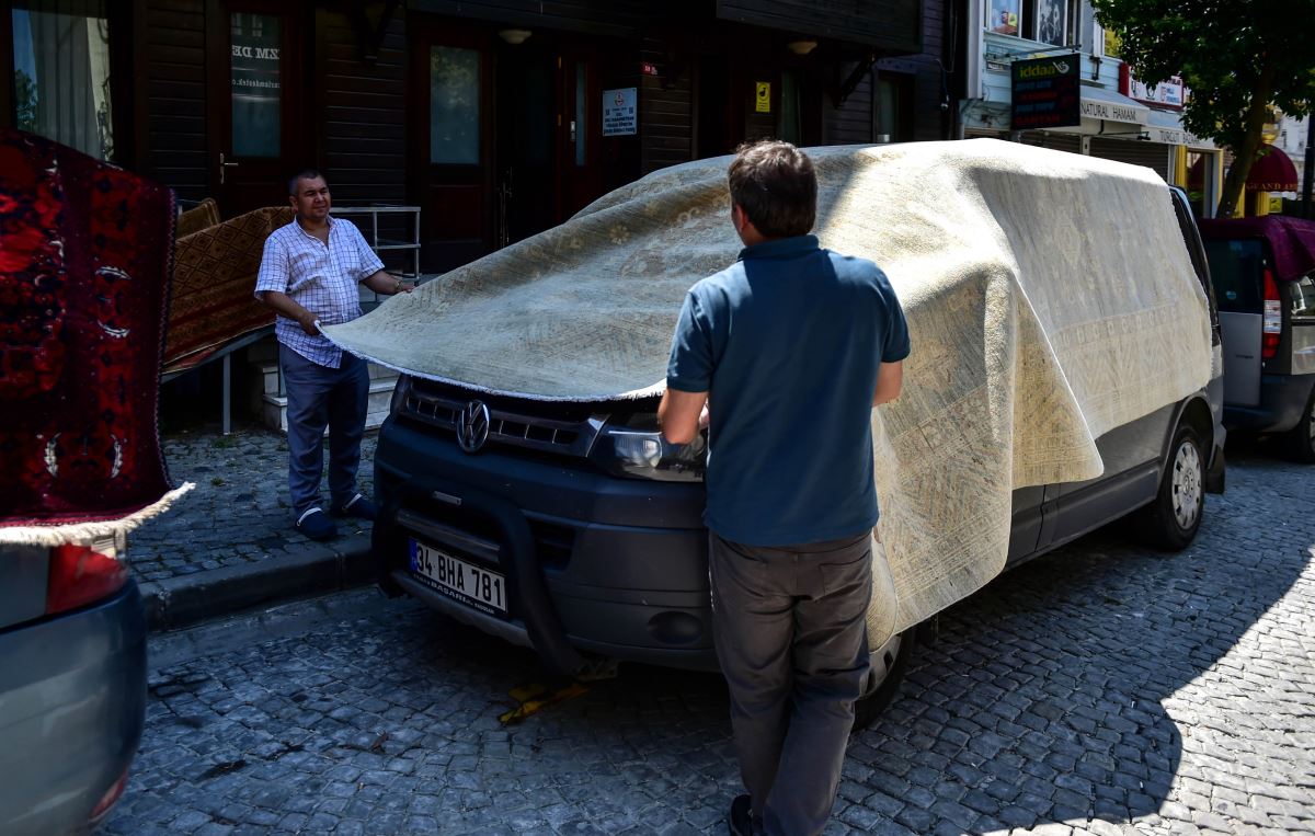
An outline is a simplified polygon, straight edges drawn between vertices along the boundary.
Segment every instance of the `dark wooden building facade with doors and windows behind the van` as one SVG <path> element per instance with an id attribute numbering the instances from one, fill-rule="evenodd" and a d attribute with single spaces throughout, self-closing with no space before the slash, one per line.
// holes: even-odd
<path id="1" fill-rule="evenodd" d="M 948 0 L 13 0 L 0 125 L 224 217 L 305 167 L 421 206 L 444 271 L 650 171 L 949 138 Z"/>

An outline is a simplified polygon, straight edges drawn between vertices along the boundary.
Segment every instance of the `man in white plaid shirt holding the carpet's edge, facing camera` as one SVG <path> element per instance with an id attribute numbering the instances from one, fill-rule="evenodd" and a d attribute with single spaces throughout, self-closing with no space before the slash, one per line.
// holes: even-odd
<path id="1" fill-rule="evenodd" d="M 255 296 L 279 314 L 279 365 L 288 394 L 288 489 L 296 527 L 313 540 L 338 534 L 320 507 L 323 434 L 329 427 L 329 514 L 373 519 L 375 503 L 356 492 L 370 373 L 366 361 L 334 346 L 321 325 L 360 315 L 356 285 L 400 293 L 402 283 L 348 221 L 329 216 L 329 185 L 318 171 L 288 183 L 297 217 L 264 242 Z"/>

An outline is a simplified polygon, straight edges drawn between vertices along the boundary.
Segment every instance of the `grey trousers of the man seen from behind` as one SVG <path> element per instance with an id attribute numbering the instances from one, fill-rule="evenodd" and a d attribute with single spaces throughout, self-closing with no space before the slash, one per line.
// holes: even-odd
<path id="1" fill-rule="evenodd" d="M 821 833 L 868 676 L 871 532 L 780 548 L 711 534 L 709 574 L 755 832 Z"/>

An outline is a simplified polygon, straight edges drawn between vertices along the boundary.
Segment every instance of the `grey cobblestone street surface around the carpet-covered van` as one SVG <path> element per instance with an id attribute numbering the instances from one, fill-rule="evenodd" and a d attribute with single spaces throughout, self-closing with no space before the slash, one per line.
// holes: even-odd
<path id="1" fill-rule="evenodd" d="M 828 832 L 1315 832 L 1311 484 L 1230 450 L 1185 552 L 1116 524 L 944 613 Z M 719 677 L 623 666 L 505 727 L 533 655 L 370 589 L 151 668 L 109 833 L 723 833 L 739 787 Z"/>

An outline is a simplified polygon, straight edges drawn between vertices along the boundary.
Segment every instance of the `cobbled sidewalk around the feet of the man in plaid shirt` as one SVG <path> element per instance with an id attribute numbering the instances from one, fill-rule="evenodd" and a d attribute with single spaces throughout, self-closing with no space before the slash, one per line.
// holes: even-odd
<path id="1" fill-rule="evenodd" d="M 367 432 L 362 442 L 358 484 L 367 496 L 373 490 L 375 440 L 376 432 Z M 162 442 L 174 482 L 191 481 L 196 488 L 170 513 L 133 532 L 130 553 L 138 580 L 258 563 L 310 546 L 292 527 L 283 434 L 238 423 L 226 436 L 217 426 L 200 426 L 171 432 Z M 339 521 L 339 531 L 368 526 Z"/>

